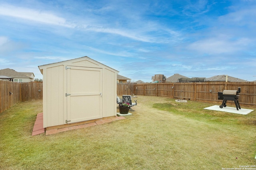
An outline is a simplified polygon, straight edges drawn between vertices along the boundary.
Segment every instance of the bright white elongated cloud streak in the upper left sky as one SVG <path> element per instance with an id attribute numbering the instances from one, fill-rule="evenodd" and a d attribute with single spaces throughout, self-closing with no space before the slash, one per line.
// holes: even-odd
<path id="1" fill-rule="evenodd" d="M 75 25 L 67 23 L 65 18 L 58 17 L 50 12 L 21 8 L 17 6 L 1 5 L 0 15 L 22 18 L 24 20 L 36 21 L 44 24 L 75 27 Z"/>

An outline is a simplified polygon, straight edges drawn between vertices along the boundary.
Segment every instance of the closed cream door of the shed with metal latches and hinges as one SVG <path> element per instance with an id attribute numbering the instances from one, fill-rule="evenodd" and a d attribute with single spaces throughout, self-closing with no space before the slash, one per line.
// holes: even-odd
<path id="1" fill-rule="evenodd" d="M 102 69 L 67 66 L 67 121 L 102 118 Z"/>

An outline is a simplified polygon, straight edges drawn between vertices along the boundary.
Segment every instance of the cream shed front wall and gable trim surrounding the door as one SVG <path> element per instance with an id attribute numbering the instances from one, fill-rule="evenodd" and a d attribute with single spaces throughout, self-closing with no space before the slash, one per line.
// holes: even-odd
<path id="1" fill-rule="evenodd" d="M 118 71 L 88 57 L 39 66 L 43 74 L 44 128 L 64 125 L 67 120 L 66 66 L 102 68 L 102 117 L 116 115 L 116 77 Z M 78 76 L 79 77 L 79 76 Z M 93 81 L 93 80 L 88 80 Z M 79 83 L 79 79 L 72 83 Z"/>

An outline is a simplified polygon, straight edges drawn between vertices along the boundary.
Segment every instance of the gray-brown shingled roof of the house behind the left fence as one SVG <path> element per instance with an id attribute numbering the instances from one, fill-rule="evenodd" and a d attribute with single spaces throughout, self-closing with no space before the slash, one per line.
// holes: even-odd
<path id="1" fill-rule="evenodd" d="M 10 68 L 5 68 L 0 70 L 1 76 L 8 76 L 12 78 L 31 78 L 33 79 L 34 73 L 33 72 L 17 72 L 15 70 L 12 70 Z"/>

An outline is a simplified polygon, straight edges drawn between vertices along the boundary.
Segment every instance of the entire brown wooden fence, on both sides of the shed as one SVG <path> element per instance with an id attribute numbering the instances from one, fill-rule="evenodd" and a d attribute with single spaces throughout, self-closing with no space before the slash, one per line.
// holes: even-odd
<path id="1" fill-rule="evenodd" d="M 187 100 L 221 103 L 218 92 L 238 90 L 240 104 L 256 105 L 256 82 L 193 82 L 193 83 L 146 83 L 117 84 L 117 95 L 166 96 Z M 40 92 L 38 91 L 40 90 Z M 12 94 L 10 94 L 10 92 Z M 17 83 L 0 81 L 0 113 L 18 102 L 43 98 L 42 82 Z"/>

